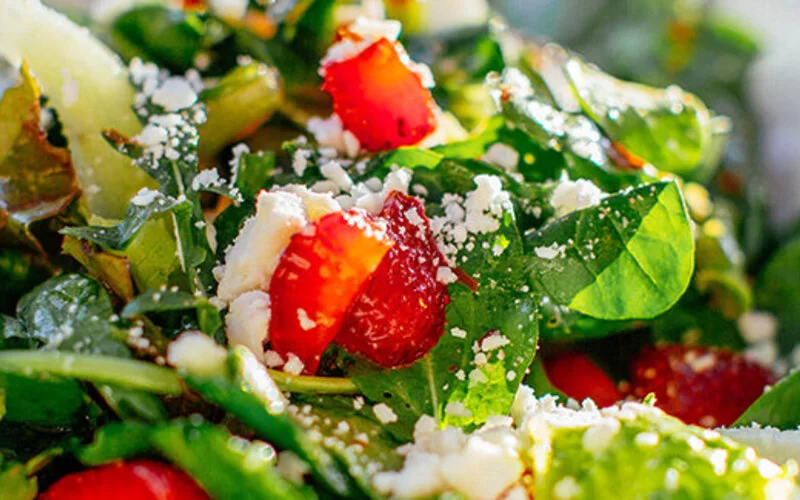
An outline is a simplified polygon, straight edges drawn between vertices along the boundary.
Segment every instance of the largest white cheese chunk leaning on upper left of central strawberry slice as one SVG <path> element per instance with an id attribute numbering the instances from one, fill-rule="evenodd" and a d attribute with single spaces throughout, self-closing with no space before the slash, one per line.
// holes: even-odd
<path id="1" fill-rule="evenodd" d="M 251 290 L 268 290 L 281 254 L 306 225 L 306 209 L 295 194 L 261 192 L 256 215 L 248 219 L 225 254 L 217 295 L 230 302 Z"/>

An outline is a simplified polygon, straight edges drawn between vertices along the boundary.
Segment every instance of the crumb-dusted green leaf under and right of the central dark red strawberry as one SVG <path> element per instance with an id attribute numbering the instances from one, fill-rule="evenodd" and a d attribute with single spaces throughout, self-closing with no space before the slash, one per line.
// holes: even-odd
<path id="1" fill-rule="evenodd" d="M 522 272 L 525 257 L 510 205 L 499 222 L 498 231 L 477 235 L 470 240 L 474 247 L 464 247 L 454 258 L 475 277 L 478 288 L 473 292 L 459 283 L 450 285 L 447 323 L 436 347 L 408 368 L 383 370 L 360 363 L 351 371 L 370 400 L 388 405 L 398 416 L 386 427 L 401 440 L 410 438 L 421 415 L 473 426 L 490 415 L 506 414 L 533 360 L 538 299 Z M 497 347 L 482 347 L 493 341 Z"/>

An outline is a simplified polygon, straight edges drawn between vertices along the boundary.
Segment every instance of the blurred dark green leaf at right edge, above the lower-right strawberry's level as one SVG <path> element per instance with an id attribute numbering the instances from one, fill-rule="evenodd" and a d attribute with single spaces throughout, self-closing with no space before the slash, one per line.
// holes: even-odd
<path id="1" fill-rule="evenodd" d="M 800 340 L 800 238 L 769 260 L 755 286 L 756 307 L 778 317 L 778 341 L 790 351 Z"/>

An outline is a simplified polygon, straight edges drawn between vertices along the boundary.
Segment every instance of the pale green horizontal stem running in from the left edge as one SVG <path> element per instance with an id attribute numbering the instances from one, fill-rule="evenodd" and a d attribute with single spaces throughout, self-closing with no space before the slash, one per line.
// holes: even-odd
<path id="1" fill-rule="evenodd" d="M 89 382 L 116 384 L 159 394 L 180 394 L 178 374 L 134 359 L 55 351 L 0 352 L 0 373 L 24 376 L 47 373 Z"/>

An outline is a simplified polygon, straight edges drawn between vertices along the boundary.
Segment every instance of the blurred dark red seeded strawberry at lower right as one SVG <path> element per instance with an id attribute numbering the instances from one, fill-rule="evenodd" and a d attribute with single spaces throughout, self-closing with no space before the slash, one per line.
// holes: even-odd
<path id="1" fill-rule="evenodd" d="M 689 424 L 732 424 L 775 376 L 727 349 L 647 346 L 631 363 L 630 392 L 656 395 L 656 406 Z"/>

